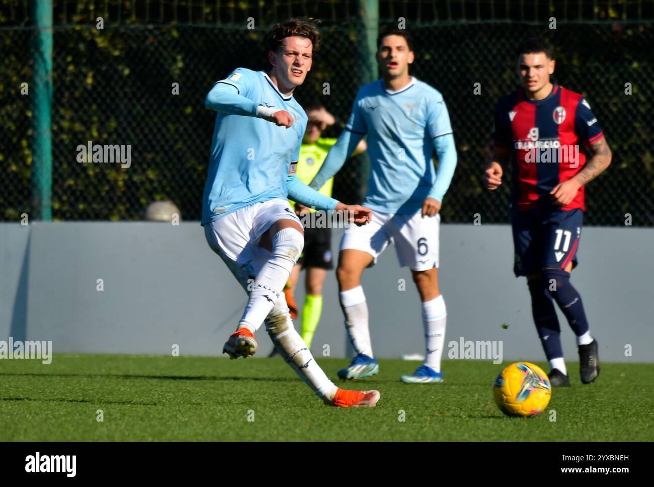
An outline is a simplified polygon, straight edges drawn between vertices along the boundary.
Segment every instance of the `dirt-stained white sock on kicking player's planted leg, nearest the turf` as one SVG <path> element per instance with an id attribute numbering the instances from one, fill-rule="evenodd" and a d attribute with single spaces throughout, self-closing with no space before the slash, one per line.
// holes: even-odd
<path id="1" fill-rule="evenodd" d="M 282 295 L 281 300 L 284 297 Z M 288 313 L 286 301 L 283 307 L 284 314 L 268 316 L 266 318 L 266 329 L 268 335 L 275 344 L 279 355 L 286 360 L 286 363 L 295 371 L 313 392 L 326 403 L 331 402 L 336 394 L 337 387 L 329 380 L 316 362 L 309 348 L 300 337 L 300 334 L 293 326 L 293 321 Z M 277 307 L 275 308 L 277 309 Z"/>

